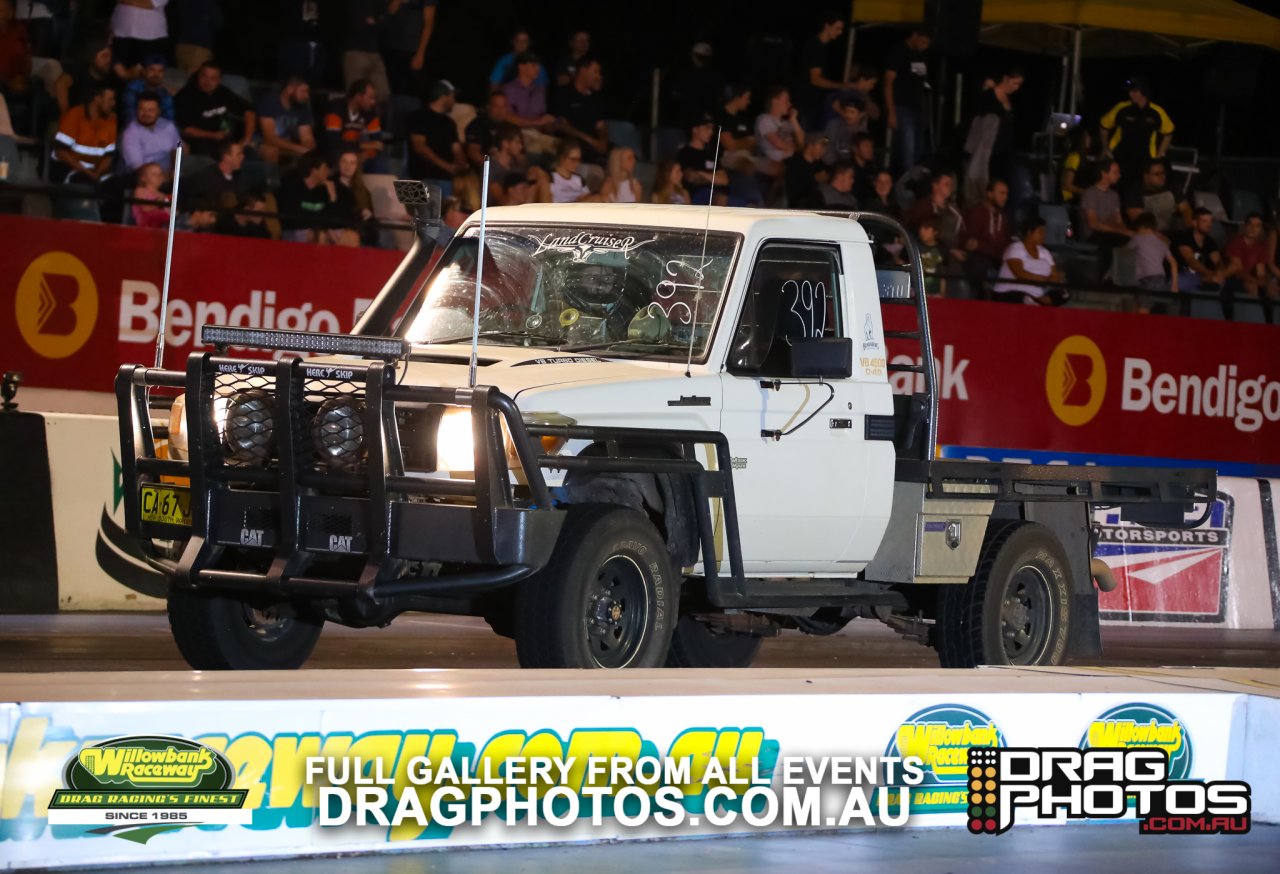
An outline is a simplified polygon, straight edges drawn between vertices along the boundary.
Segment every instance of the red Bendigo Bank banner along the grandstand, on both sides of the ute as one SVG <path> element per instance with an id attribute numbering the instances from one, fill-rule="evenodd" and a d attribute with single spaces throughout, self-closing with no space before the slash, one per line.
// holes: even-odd
<path id="1" fill-rule="evenodd" d="M 31 385 L 110 392 L 155 358 L 161 230 L 0 216 L 0 367 Z M 401 255 L 179 234 L 165 363 L 206 322 L 346 331 Z M 886 326 L 906 307 L 888 307 Z M 1206 463 L 1280 475 L 1280 329 L 1084 310 L 932 301 L 941 416 L 954 457 Z M 916 349 L 891 343 L 891 360 Z M 923 390 L 896 374 L 895 390 Z"/>

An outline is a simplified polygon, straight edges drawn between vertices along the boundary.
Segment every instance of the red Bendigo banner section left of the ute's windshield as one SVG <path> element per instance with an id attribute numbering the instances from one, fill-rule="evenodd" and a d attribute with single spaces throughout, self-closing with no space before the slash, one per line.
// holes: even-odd
<path id="1" fill-rule="evenodd" d="M 122 363 L 155 361 L 165 232 L 0 215 L 0 367 L 29 385 L 110 392 Z M 165 365 L 201 325 L 346 331 L 401 253 L 179 233 Z"/>

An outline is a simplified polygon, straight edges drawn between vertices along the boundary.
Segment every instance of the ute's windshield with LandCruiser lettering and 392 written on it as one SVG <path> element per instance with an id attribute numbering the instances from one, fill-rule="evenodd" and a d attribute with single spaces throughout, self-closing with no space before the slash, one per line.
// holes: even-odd
<path id="1" fill-rule="evenodd" d="M 737 234 L 620 226 L 485 230 L 480 342 L 700 360 Z M 704 255 L 705 247 L 705 255 Z M 470 339 L 479 230 L 456 238 L 403 321 L 412 343 Z"/>

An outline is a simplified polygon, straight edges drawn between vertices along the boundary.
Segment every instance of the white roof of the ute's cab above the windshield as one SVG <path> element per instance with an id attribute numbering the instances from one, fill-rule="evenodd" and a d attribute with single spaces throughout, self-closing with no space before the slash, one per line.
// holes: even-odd
<path id="1" fill-rule="evenodd" d="M 660 203 L 525 203 L 494 206 L 486 221 L 512 224 L 623 225 L 640 228 L 681 228 L 689 230 L 727 230 L 740 234 L 867 242 L 867 232 L 844 215 L 823 215 L 805 210 L 758 210 L 733 206 L 682 206 Z M 480 214 L 467 220 L 477 224 Z"/>

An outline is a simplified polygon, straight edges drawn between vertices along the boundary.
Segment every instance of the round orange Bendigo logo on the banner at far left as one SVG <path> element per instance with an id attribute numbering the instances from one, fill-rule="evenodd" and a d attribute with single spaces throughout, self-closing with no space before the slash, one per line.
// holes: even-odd
<path id="1" fill-rule="evenodd" d="M 14 298 L 22 339 L 45 358 L 79 351 L 97 322 L 97 285 L 84 262 L 68 252 L 45 252 L 31 262 Z"/>

